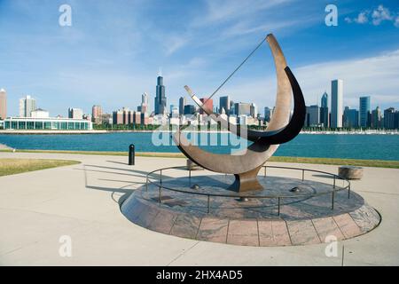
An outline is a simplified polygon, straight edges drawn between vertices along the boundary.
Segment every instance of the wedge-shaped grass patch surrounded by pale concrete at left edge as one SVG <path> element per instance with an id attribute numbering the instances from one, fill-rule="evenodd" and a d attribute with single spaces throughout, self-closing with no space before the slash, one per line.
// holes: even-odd
<path id="1" fill-rule="evenodd" d="M 50 159 L 0 159 L 0 177 L 32 170 L 44 170 L 74 165 L 80 162 Z"/>

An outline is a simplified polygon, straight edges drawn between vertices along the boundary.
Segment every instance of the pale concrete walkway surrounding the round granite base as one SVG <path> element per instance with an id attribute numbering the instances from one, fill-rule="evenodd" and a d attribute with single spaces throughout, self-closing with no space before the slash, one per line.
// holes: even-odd
<path id="1" fill-rule="evenodd" d="M 344 265 L 399 264 L 399 170 L 366 168 L 364 178 L 352 183 L 379 210 L 382 223 L 340 241 L 338 255 L 328 257 L 326 244 L 256 248 L 192 241 L 146 230 L 121 215 L 119 198 L 143 185 L 148 171 L 184 165 L 184 159 L 137 157 L 129 167 L 122 156 L 0 153 L 0 158 L 82 162 L 0 177 L 2 265 L 340 265 L 342 245 Z M 337 172 L 337 166 L 284 165 Z M 59 255 L 62 236 L 71 238 L 70 257 Z"/>

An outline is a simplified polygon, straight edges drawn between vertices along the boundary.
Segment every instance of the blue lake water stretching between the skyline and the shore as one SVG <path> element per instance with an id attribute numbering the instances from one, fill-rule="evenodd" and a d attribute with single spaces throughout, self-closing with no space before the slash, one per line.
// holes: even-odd
<path id="1" fill-rule="evenodd" d="M 17 149 L 82 151 L 128 151 L 128 146 L 134 144 L 137 152 L 179 152 L 178 148 L 172 145 L 170 134 L 163 135 L 160 137 L 159 133 L 149 132 L 80 135 L 3 134 L 0 135 L 0 144 Z M 224 145 L 201 146 L 214 153 L 231 153 L 231 149 L 234 151 L 239 149 L 239 146 L 244 146 L 243 143 L 237 144 L 237 138 L 231 138 L 228 133 L 206 136 L 207 144 L 210 139 L 217 139 L 219 145 Z M 275 155 L 399 161 L 399 135 L 300 134 L 292 141 L 279 146 Z"/>

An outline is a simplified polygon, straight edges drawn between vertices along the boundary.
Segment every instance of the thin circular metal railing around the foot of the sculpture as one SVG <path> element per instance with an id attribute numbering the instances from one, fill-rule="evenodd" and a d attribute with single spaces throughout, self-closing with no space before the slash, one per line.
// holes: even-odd
<path id="1" fill-rule="evenodd" d="M 313 172 L 313 173 L 321 173 L 328 175 L 332 177 L 332 191 L 327 191 L 327 192 L 322 192 L 322 193 L 313 193 L 313 194 L 301 194 L 301 193 L 295 193 L 293 195 L 246 195 L 244 193 L 239 193 L 239 194 L 221 194 L 221 193 L 203 193 L 203 192 L 192 192 L 192 191 L 186 191 L 183 189 L 178 189 L 178 188 L 171 188 L 165 185 L 162 185 L 162 171 L 164 170 L 177 170 L 177 169 L 184 169 L 187 170 L 186 166 L 179 166 L 179 167 L 168 167 L 168 168 L 162 168 L 159 170 L 153 170 L 149 172 L 146 175 L 146 180 L 145 180 L 145 189 L 148 191 L 148 185 L 155 185 L 158 187 L 158 202 L 162 202 L 162 189 L 176 192 L 176 193 L 187 193 L 187 194 L 195 194 L 195 195 L 202 195 L 202 196 L 207 196 L 207 213 L 210 213 L 210 198 L 211 197 L 225 197 L 225 198 L 240 198 L 240 199 L 277 199 L 278 200 L 278 216 L 280 216 L 280 207 L 281 207 L 281 201 L 283 199 L 293 199 L 293 198 L 313 198 L 325 194 L 331 194 L 331 209 L 334 209 L 334 198 L 335 198 L 335 193 L 343 191 L 343 190 L 348 190 L 348 199 L 350 198 L 350 182 L 346 178 L 342 178 L 338 175 L 332 174 L 330 172 L 322 171 L 322 170 L 309 170 L 309 169 L 303 169 L 303 168 L 292 168 L 292 167 L 280 167 L 280 166 L 262 166 L 264 168 L 264 174 L 263 177 L 266 177 L 267 169 L 280 169 L 280 170 L 299 170 L 301 171 L 301 181 L 305 181 L 305 172 Z M 188 171 L 188 177 L 191 180 L 192 178 L 192 170 L 187 170 Z M 150 179 L 150 176 L 153 175 L 154 173 L 159 172 L 159 183 L 156 181 L 153 181 Z M 343 183 L 347 183 L 347 185 L 339 187 L 336 185 L 336 180 L 340 179 L 343 180 Z M 310 181 L 310 180 L 309 180 Z"/>

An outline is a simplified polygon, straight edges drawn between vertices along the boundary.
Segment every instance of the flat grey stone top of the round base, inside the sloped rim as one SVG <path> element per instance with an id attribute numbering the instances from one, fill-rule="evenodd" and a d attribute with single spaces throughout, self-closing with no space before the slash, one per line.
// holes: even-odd
<path id="1" fill-rule="evenodd" d="M 359 194 L 350 194 L 348 198 L 348 189 L 339 190 L 340 186 L 347 185 L 343 180 L 337 180 L 337 187 L 333 187 L 332 178 L 322 183 L 302 181 L 299 178 L 258 177 L 264 189 L 245 193 L 249 198 L 242 202 L 237 198 L 237 193 L 227 190 L 233 182 L 233 177 L 196 174 L 198 176 L 187 175 L 187 177 L 176 178 L 164 176 L 162 186 L 166 188 L 160 190 L 159 186 L 149 184 L 145 186 L 145 190 L 138 190 L 137 193 L 147 201 L 155 203 L 160 201 L 162 205 L 167 205 L 176 212 L 190 213 L 197 217 L 204 217 L 209 213 L 210 216 L 227 219 L 309 220 L 352 212 L 364 205 L 364 199 Z M 299 191 L 293 192 L 293 187 L 298 188 Z M 179 191 L 171 191 L 167 188 Z M 332 199 L 333 190 L 335 194 Z M 209 197 L 209 200 L 207 195 L 204 195 L 207 193 L 213 195 Z M 259 198 L 265 195 L 268 198 Z M 279 200 L 278 197 L 280 197 Z M 279 217 L 278 204 L 280 204 Z"/>

